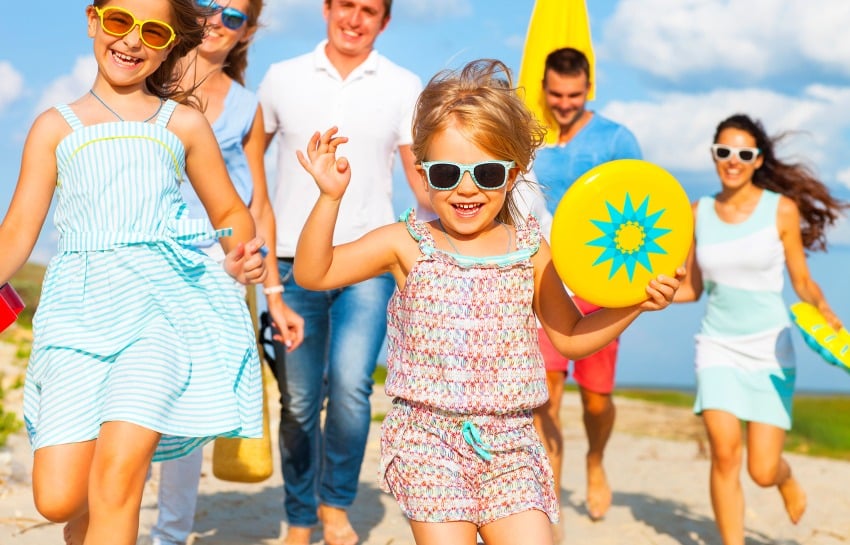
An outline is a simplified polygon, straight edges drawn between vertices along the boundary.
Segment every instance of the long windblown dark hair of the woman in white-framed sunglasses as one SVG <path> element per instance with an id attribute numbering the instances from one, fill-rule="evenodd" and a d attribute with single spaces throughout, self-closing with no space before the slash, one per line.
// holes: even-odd
<path id="1" fill-rule="evenodd" d="M 762 156 L 762 165 L 753 174 L 753 184 L 781 193 L 797 203 L 802 219 L 800 232 L 803 246 L 808 250 L 825 251 L 826 228 L 838 220 L 842 210 L 850 207 L 850 203 L 834 198 L 808 165 L 780 161 L 776 157 L 776 144 L 791 133 L 768 136 L 760 121 L 746 114 L 735 114 L 717 125 L 715 142 L 726 129 L 744 131 L 755 139 Z"/>

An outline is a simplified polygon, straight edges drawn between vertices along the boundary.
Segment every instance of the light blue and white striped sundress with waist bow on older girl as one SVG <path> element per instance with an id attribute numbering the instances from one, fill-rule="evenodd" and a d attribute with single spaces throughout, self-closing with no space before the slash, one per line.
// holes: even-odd
<path id="1" fill-rule="evenodd" d="M 251 320 L 234 281 L 191 246 L 209 237 L 185 218 L 185 150 L 153 123 L 83 126 L 56 148 L 55 223 L 33 330 L 24 418 L 33 449 L 95 439 L 126 421 L 163 434 L 154 460 L 216 436 L 262 434 Z"/>

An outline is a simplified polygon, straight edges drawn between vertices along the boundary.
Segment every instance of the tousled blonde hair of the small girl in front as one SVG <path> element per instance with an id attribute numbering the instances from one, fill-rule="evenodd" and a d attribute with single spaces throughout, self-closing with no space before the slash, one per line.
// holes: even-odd
<path id="1" fill-rule="evenodd" d="M 434 136 L 455 127 L 470 142 L 493 157 L 514 161 L 518 181 L 528 172 L 546 129 L 525 107 L 511 73 L 495 59 L 479 59 L 461 70 L 443 70 L 419 95 L 413 117 L 411 149 L 417 161 L 427 161 Z M 511 193 L 498 221 L 515 224 L 517 206 Z"/>

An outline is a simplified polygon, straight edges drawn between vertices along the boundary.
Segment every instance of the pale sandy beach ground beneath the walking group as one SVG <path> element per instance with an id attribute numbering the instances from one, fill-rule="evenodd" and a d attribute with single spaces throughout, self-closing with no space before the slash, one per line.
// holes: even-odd
<path id="1" fill-rule="evenodd" d="M 3 354 L 0 354 L 2 361 Z M 6 376 L 5 383 L 9 383 Z M 275 386 L 272 384 L 271 388 Z M 6 410 L 20 415 L 21 389 L 6 392 Z M 272 398 L 272 430 L 277 402 Z M 565 467 L 562 519 L 564 543 L 597 545 L 715 544 L 708 494 L 707 445 L 701 421 L 687 409 L 617 399 L 618 419 L 606 452 L 614 490 L 608 515 L 591 522 L 584 506 L 584 434 L 578 396 L 564 399 Z M 385 414 L 389 400 L 380 388 L 373 412 Z M 356 503 L 350 514 L 364 545 L 412 545 L 404 517 L 391 496 L 376 485 L 380 425 L 372 425 Z M 275 449 L 276 450 L 276 449 Z M 195 545 L 275 544 L 286 529 L 279 470 L 256 484 L 225 482 L 211 470 L 212 447 L 205 449 L 195 531 Z M 275 452 L 277 456 L 277 452 Z M 789 455 L 805 487 L 809 507 L 792 525 L 775 489 L 760 489 L 744 479 L 747 545 L 839 545 L 850 543 L 850 462 Z M 23 431 L 0 449 L 0 544 L 62 543 L 62 526 L 45 521 L 35 510 L 30 490 L 32 455 Z M 277 464 L 276 464 L 277 467 Z M 142 502 L 139 543 L 156 518 L 158 468 Z M 313 543 L 322 543 L 321 532 Z"/>

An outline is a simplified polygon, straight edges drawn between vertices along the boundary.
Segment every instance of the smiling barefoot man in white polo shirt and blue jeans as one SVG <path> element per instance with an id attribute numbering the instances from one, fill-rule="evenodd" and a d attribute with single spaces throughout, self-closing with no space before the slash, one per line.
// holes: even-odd
<path id="1" fill-rule="evenodd" d="M 304 317 L 304 342 L 285 354 L 278 346 L 284 543 L 310 542 L 319 522 L 329 545 L 353 545 L 347 508 L 353 503 L 371 419 L 372 372 L 386 333 L 389 275 L 326 292 L 292 279 L 298 236 L 319 192 L 296 159 L 316 131 L 339 127 L 352 179 L 342 202 L 334 244 L 349 242 L 396 220 L 392 166 L 402 161 L 411 189 L 427 207 L 410 151 L 419 78 L 374 50 L 387 27 L 392 0 L 324 0 L 327 39 L 311 53 L 273 64 L 259 87 L 267 145 L 277 137 L 273 200 L 283 298 Z M 320 421 L 327 402 L 324 430 Z"/>

